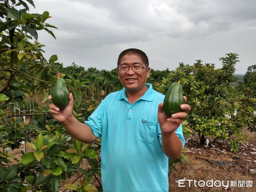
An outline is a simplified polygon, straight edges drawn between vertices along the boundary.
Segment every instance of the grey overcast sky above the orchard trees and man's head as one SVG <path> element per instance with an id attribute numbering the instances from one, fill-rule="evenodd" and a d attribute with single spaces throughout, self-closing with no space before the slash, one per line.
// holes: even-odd
<path id="1" fill-rule="evenodd" d="M 38 41 L 45 57 L 99 70 L 116 67 L 119 53 L 142 49 L 154 70 L 174 70 L 179 62 L 213 63 L 239 54 L 236 73 L 256 64 L 256 0 L 34 0 L 31 13 L 48 11 Z"/>

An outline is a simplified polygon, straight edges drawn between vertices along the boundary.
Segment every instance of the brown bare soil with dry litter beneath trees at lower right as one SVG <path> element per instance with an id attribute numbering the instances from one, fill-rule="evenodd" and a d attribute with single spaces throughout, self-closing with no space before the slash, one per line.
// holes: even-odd
<path id="1" fill-rule="evenodd" d="M 189 152 L 184 154 L 189 163 L 175 165 L 177 172 L 173 170 L 169 177 L 169 191 L 256 192 L 256 175 L 252 174 L 256 170 L 256 133 L 244 131 L 251 140 L 238 152 L 230 151 L 228 141 L 209 140 L 208 146 L 202 146 L 198 137 L 186 138 Z"/>

